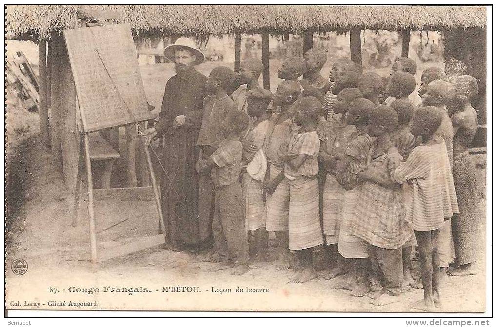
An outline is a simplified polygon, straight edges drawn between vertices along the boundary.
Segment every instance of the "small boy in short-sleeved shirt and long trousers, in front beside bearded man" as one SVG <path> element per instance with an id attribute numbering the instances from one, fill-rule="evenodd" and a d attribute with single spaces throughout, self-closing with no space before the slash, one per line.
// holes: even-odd
<path id="1" fill-rule="evenodd" d="M 231 259 L 233 275 L 243 275 L 248 267 L 248 243 L 244 223 L 245 204 L 238 177 L 242 167 L 243 146 L 240 134 L 248 127 L 248 116 L 242 111 L 232 111 L 221 122 L 225 139 L 214 153 L 199 160 L 202 172 L 210 171 L 214 184 L 214 218 L 212 233 L 220 257 Z M 225 260 L 226 260 L 225 259 Z"/>

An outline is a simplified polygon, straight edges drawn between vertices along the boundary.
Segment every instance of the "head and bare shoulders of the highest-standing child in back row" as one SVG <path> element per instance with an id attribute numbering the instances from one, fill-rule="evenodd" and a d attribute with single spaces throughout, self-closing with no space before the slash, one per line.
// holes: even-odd
<path id="1" fill-rule="evenodd" d="M 321 70 L 328 60 L 328 55 L 325 50 L 311 48 L 304 54 L 304 59 L 307 62 L 307 77 L 300 81 L 304 89 L 316 87 L 321 91 L 321 96 L 325 96 L 326 92 L 331 89 L 331 82 L 321 75 Z"/>

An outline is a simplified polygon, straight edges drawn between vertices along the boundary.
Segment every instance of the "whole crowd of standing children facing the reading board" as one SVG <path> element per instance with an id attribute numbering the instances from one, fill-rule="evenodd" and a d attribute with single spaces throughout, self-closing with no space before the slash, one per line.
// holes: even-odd
<path id="1" fill-rule="evenodd" d="M 413 60 L 398 59 L 382 77 L 360 74 L 352 61 L 340 59 L 325 79 L 326 61 L 318 49 L 286 59 L 274 94 L 258 84 L 258 60 L 241 64 L 244 85 L 231 96 L 237 73 L 212 70 L 195 166 L 199 214 L 213 217 L 214 247 L 205 260 L 243 274 L 274 259 L 276 270 L 294 269 L 291 281 L 300 283 L 348 274 L 333 288 L 367 295 L 376 305 L 398 301 L 408 285 L 422 287 L 424 298 L 411 308 L 434 310 L 454 248 L 463 271 L 476 260 L 472 224 L 459 216 L 472 210 L 467 199 L 473 195 L 454 186 L 464 185 L 460 176 L 471 165 L 469 142 L 454 141 L 453 148 L 453 139 L 460 126 L 470 127 L 466 140 L 474 136 L 470 100 L 478 84 L 471 76 L 451 83 L 443 70 L 427 68 L 419 88 L 423 103 L 415 107 L 409 100 Z M 454 155 L 459 177 L 452 174 Z M 462 221 L 459 228 L 452 217 Z M 463 245 L 453 243 L 452 231 Z M 275 258 L 268 252 L 270 232 Z M 415 246 L 422 283 L 411 272 Z M 372 278 L 380 291 L 371 291 Z"/>

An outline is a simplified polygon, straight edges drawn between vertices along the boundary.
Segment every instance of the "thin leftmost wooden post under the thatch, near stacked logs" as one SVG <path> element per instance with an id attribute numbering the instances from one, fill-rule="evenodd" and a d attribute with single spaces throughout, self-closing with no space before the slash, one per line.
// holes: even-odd
<path id="1" fill-rule="evenodd" d="M 40 41 L 39 44 L 39 62 L 38 62 L 38 69 L 39 69 L 39 78 L 38 80 L 40 81 L 40 110 L 39 110 L 39 119 L 40 119 L 40 136 L 41 136 L 41 143 L 45 146 L 48 147 L 50 144 L 50 141 L 48 138 L 50 137 L 48 134 L 48 107 L 47 107 L 47 41 L 43 40 Z"/>

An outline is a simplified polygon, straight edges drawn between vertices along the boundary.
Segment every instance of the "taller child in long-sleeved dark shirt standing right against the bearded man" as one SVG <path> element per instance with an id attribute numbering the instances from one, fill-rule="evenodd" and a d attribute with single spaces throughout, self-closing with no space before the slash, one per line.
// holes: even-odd
<path id="1" fill-rule="evenodd" d="M 202 126 L 197 139 L 197 146 L 200 148 L 199 160 L 209 159 L 219 143 L 224 140 L 220 123 L 230 111 L 236 110 L 235 103 L 228 96 L 226 89 L 236 77 L 237 74 L 230 68 L 216 67 L 211 71 L 209 80 L 205 83 L 208 96 L 204 99 Z M 201 221 L 210 222 L 214 203 L 211 173 L 209 170 L 203 170 L 199 172 L 198 178 L 198 214 Z M 207 260 L 211 259 L 210 254 Z M 215 255 L 212 259 L 219 261 L 222 258 Z"/>

